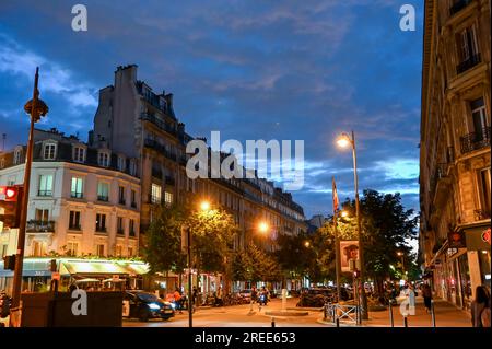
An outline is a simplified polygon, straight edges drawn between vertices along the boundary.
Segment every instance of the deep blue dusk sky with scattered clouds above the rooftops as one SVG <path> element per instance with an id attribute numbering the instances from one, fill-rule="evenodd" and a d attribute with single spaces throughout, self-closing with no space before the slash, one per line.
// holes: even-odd
<path id="1" fill-rule="evenodd" d="M 73 32 L 83 3 L 89 31 Z M 417 31 L 399 28 L 402 4 Z M 98 89 L 136 63 L 174 93 L 192 136 L 304 140 L 306 216 L 331 211 L 331 177 L 353 197 L 354 130 L 361 188 L 401 193 L 418 208 L 423 0 L 0 1 L 0 133 L 25 142 L 33 74 L 50 112 L 39 127 L 86 138 Z M 1 147 L 1 143 L 0 143 Z M 0 148 L 1 149 L 1 148 Z"/>

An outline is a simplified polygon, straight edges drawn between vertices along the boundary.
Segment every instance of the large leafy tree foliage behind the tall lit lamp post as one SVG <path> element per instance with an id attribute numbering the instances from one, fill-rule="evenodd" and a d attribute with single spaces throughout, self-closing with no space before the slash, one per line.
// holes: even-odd
<path id="1" fill-rule="evenodd" d="M 401 265 L 398 252 L 403 253 L 403 265 L 415 265 L 409 241 L 417 237 L 418 218 L 412 209 L 401 205 L 400 194 L 379 194 L 366 189 L 360 201 L 362 242 L 366 277 L 375 280 L 377 291 L 383 291 L 383 281 L 398 275 L 396 266 Z M 355 201 L 345 200 L 343 210 L 350 219 L 338 220 L 337 232 L 340 240 L 358 240 Z M 314 236 L 314 246 L 321 261 L 321 275 L 333 279 L 335 275 L 335 230 L 332 220 L 321 226 Z M 402 267 L 402 265 L 401 265 Z M 412 269 L 413 271 L 413 269 Z M 414 274 L 414 272 L 413 272 Z"/>

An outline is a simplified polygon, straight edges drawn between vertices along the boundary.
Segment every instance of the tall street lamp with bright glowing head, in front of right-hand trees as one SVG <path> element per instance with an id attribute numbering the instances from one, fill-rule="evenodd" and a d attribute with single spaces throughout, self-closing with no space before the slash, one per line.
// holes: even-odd
<path id="1" fill-rule="evenodd" d="M 356 155 L 356 148 L 355 148 L 355 136 L 352 131 L 352 137 L 350 137 L 347 133 L 342 133 L 338 139 L 337 143 L 340 148 L 347 148 L 349 146 L 352 147 L 352 158 L 353 158 L 353 178 L 354 178 L 354 189 L 355 189 L 355 214 L 358 220 L 358 240 L 359 240 L 359 264 L 360 264 L 360 282 L 362 284 L 361 292 L 360 292 L 360 299 L 362 301 L 361 304 L 361 313 L 362 318 L 367 319 L 367 298 L 365 294 L 365 288 L 364 288 L 364 278 L 365 278 L 365 270 L 364 270 L 364 246 L 362 243 L 362 229 L 361 229 L 361 210 L 360 210 L 360 200 L 359 200 L 359 177 L 358 177 L 358 155 Z"/>

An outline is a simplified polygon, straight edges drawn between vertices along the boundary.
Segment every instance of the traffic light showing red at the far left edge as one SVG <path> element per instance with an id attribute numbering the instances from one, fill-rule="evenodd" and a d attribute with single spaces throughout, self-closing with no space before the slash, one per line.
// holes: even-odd
<path id="1" fill-rule="evenodd" d="M 3 228 L 19 228 L 21 224 L 23 187 L 21 185 L 0 186 L 0 221 Z"/>

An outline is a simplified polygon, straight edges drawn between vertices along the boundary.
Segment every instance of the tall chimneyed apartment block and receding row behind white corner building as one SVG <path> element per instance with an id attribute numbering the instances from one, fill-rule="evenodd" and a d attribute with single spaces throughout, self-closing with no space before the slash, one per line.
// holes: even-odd
<path id="1" fill-rule="evenodd" d="M 194 138 L 174 112 L 173 94 L 154 92 L 137 77 L 138 67 L 117 67 L 114 84 L 99 90 L 90 144 L 101 142 L 116 152 L 139 160 L 141 181 L 141 231 L 149 226 L 161 202 L 183 202 L 192 193 L 227 210 L 242 231 L 235 242 L 241 248 L 255 234 L 259 221 L 272 235 L 305 231 L 303 208 L 265 178 L 197 178 L 186 175 L 186 144 Z M 206 140 L 206 139 L 204 139 Z M 195 205 L 188 202 L 188 205 Z M 144 234 L 142 234 L 142 239 Z"/>

